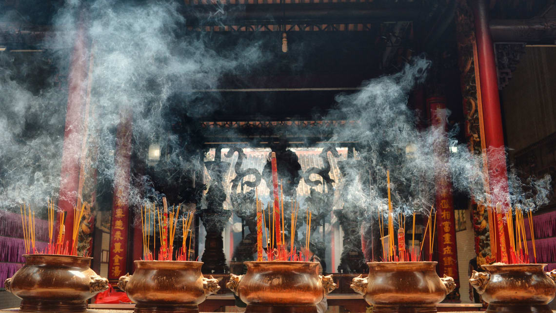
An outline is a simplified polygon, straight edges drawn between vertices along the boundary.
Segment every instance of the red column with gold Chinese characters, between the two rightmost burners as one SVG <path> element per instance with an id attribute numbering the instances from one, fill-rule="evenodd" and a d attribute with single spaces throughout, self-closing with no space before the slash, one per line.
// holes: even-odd
<path id="1" fill-rule="evenodd" d="M 458 250 L 455 241 L 455 212 L 452 197 L 452 185 L 445 164 L 448 163 L 449 146 L 446 137 L 446 99 L 430 97 L 427 99 L 430 110 L 431 124 L 438 131 L 433 149 L 436 159 L 435 170 L 435 208 L 436 238 L 438 242 L 438 271 L 440 276 L 454 278 L 459 288 Z"/>

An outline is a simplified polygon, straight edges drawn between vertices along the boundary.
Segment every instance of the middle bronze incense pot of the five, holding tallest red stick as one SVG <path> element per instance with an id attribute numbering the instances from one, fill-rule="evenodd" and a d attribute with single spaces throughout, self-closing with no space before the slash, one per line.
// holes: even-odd
<path id="1" fill-rule="evenodd" d="M 247 304 L 246 313 L 316 313 L 336 284 L 319 275 L 318 262 L 244 262 L 245 275 L 230 274 L 226 287 Z"/>

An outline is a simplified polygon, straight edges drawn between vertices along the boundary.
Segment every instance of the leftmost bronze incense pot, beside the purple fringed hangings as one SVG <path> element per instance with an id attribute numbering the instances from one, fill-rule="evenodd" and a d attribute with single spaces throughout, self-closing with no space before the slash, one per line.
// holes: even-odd
<path id="1" fill-rule="evenodd" d="M 108 289 L 108 280 L 91 270 L 90 257 L 24 255 L 26 261 L 6 290 L 22 299 L 27 312 L 84 312 L 86 300 Z"/>

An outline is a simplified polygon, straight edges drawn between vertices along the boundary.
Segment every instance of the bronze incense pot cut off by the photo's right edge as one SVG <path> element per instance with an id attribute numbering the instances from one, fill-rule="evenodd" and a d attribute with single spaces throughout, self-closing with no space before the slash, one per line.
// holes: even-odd
<path id="1" fill-rule="evenodd" d="M 546 264 L 495 263 L 481 266 L 485 272 L 473 271 L 471 286 L 488 302 L 486 312 L 551 313 L 556 270 L 544 272 Z"/>

